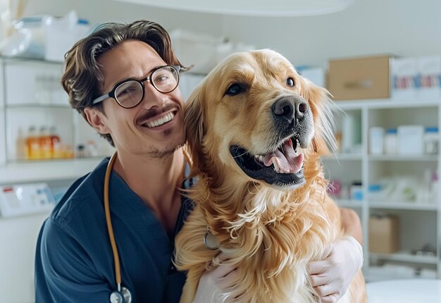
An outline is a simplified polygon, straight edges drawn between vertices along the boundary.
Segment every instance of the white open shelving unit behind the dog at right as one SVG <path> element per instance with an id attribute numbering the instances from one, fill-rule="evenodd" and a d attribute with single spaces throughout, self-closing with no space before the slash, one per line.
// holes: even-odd
<path id="1" fill-rule="evenodd" d="M 359 146 L 354 152 L 345 151 L 323 158 L 327 177 L 340 180 L 343 185 L 354 181 L 361 182 L 362 198 L 351 200 L 348 197 L 335 198 L 337 204 L 356 211 L 364 232 L 364 274 L 366 280 L 381 280 L 386 278 L 441 278 L 441 198 L 435 201 L 419 203 L 406 199 L 369 199 L 369 185 L 390 176 L 410 176 L 423 180 L 426 170 L 441 172 L 441 154 L 380 154 L 369 153 L 369 129 L 380 126 L 385 129 L 397 128 L 399 125 L 423 125 L 437 127 L 441 125 L 441 98 L 433 100 L 403 100 L 369 99 L 336 101 L 335 119 L 337 130 L 346 128 L 342 125 L 342 117 L 356 117 L 359 134 L 350 134 L 359 140 Z M 349 119 L 350 120 L 350 119 Z M 352 120 L 352 123 L 354 121 Z M 440 137 L 438 138 L 440 141 Z M 356 142 L 355 142 L 356 143 Z M 441 146 L 441 145 L 440 145 Z M 441 188 L 441 180 L 437 180 L 437 188 Z M 390 254 L 373 253 L 369 250 L 368 221 L 373 214 L 393 214 L 399 217 L 400 249 Z M 374 239 L 371 239 L 374 240 Z M 426 245 L 435 249 L 434 254 L 422 252 Z M 390 272 L 391 267 L 403 269 L 397 273 Z M 381 267 L 383 266 L 383 267 Z M 384 270 L 383 270 L 384 268 Z M 370 274 L 371 269 L 371 274 Z M 409 269 L 409 270 L 407 270 Z M 413 271 L 412 271 L 413 270 Z M 406 274 L 402 274 L 405 272 Z M 429 276 L 430 276 L 429 275 Z"/>

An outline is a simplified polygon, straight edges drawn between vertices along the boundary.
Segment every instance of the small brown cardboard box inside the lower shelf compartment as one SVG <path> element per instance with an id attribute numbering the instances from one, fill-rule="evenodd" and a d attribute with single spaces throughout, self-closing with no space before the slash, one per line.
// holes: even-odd
<path id="1" fill-rule="evenodd" d="M 399 250 L 399 218 L 371 216 L 369 218 L 369 252 L 391 254 Z"/>

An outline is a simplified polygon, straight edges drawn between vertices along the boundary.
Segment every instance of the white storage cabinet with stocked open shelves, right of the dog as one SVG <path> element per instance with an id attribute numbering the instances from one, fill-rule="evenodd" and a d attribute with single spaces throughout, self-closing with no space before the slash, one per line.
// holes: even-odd
<path id="1" fill-rule="evenodd" d="M 373 154 L 370 137 L 372 128 L 385 131 L 400 125 L 439 128 L 441 99 L 353 100 L 337 101 L 335 105 L 344 111 L 335 116 L 340 150 L 326 156 L 323 164 L 327 178 L 334 180 L 338 185 L 335 188 L 340 189 L 335 197 L 337 203 L 354 209 L 361 218 L 366 280 L 441 278 L 441 199 L 434 190 L 440 188 L 441 181 L 433 178 L 441 172 L 440 153 L 402 150 L 395 154 Z M 349 132 L 348 128 L 351 128 Z M 423 138 L 406 134 L 401 140 L 406 140 L 402 144 L 411 150 L 412 144 Z M 435 140 L 439 146 L 440 135 Z M 398 218 L 398 228 L 393 234 L 398 237 L 397 249 L 371 251 L 370 243 L 376 247 L 382 241 L 369 239 L 369 218 L 376 215 Z M 371 230 L 374 228 L 371 226 Z M 381 235 L 389 232 L 380 230 Z"/>

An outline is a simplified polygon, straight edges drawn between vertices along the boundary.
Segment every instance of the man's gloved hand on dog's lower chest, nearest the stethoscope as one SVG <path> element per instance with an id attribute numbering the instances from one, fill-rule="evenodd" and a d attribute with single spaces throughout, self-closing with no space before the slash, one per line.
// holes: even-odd
<path id="1" fill-rule="evenodd" d="M 231 264 L 225 264 L 226 257 L 223 253 L 216 256 L 221 261 L 218 267 L 213 270 L 207 270 L 199 279 L 194 303 L 218 303 L 223 302 L 219 294 L 223 292 L 231 279 L 235 278 L 236 267 Z"/>

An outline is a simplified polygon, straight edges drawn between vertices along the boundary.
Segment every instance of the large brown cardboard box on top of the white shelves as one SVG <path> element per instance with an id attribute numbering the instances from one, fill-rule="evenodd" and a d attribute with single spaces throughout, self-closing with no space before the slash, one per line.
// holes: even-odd
<path id="1" fill-rule="evenodd" d="M 390 56 L 329 61 L 328 90 L 334 99 L 390 97 Z"/>

